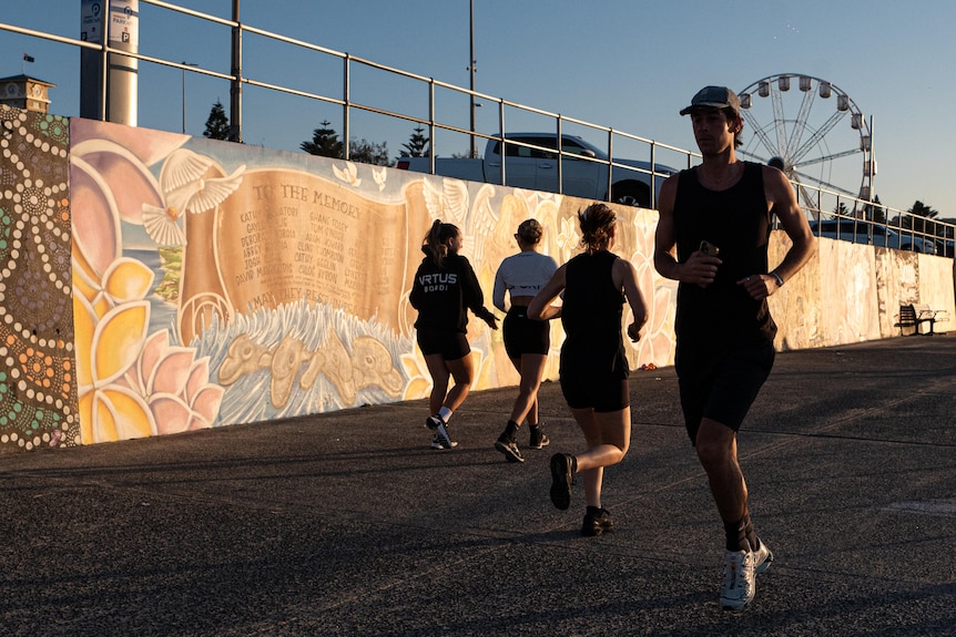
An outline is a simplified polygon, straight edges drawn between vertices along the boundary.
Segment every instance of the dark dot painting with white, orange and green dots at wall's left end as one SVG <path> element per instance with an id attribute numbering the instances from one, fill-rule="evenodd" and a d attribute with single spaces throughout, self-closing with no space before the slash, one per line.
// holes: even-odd
<path id="1" fill-rule="evenodd" d="M 0 105 L 0 453 L 80 444 L 69 130 Z"/>

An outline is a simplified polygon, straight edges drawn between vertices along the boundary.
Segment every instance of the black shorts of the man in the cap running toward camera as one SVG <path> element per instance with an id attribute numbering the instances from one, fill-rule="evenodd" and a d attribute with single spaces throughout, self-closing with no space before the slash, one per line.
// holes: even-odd
<path id="1" fill-rule="evenodd" d="M 704 418 L 740 431 L 750 405 L 770 376 L 774 356 L 770 341 L 720 356 L 695 348 L 679 348 L 674 370 L 691 443 L 696 441 Z"/>

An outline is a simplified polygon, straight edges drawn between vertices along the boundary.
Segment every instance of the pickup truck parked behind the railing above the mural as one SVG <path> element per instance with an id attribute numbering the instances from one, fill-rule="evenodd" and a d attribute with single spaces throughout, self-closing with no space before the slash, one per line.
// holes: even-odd
<path id="1" fill-rule="evenodd" d="M 558 136 L 553 133 L 515 133 L 505 140 L 505 175 L 508 186 L 558 192 Z M 649 208 L 651 175 L 654 175 L 654 202 L 661 184 L 677 169 L 663 164 L 614 157 L 611 189 L 608 192 L 608 155 L 593 144 L 574 135 L 561 136 L 561 176 L 563 194 Z M 396 167 L 419 173 L 431 172 L 430 157 L 400 157 Z M 488 140 L 481 158 L 435 158 L 435 174 L 469 182 L 501 183 L 501 141 Z M 629 166 L 637 169 L 629 169 Z"/>

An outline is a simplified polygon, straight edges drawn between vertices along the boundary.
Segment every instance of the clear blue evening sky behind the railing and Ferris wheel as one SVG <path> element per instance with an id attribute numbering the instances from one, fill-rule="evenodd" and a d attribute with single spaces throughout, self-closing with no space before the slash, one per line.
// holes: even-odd
<path id="1" fill-rule="evenodd" d="M 223 19 L 232 16 L 232 0 L 167 1 Z M 242 0 L 240 19 L 248 27 L 466 89 L 474 25 L 476 91 L 690 151 L 696 150 L 691 125 L 679 111 L 700 88 L 719 84 L 743 92 L 767 78 L 806 75 L 814 85 L 832 83 L 848 96 L 865 127 L 872 124 L 866 132 L 877 167 L 873 187 L 883 204 L 905 210 L 921 201 L 940 218 L 956 217 L 956 192 L 949 184 L 956 119 L 946 116 L 946 109 L 956 104 L 952 0 L 470 1 L 474 21 L 469 0 Z M 228 73 L 227 28 L 145 2 L 139 9 L 140 53 Z M 2 0 L 0 23 L 78 39 L 80 14 L 81 0 Z M 23 62 L 24 53 L 34 62 Z M 74 47 L 0 30 L 0 76 L 26 72 L 57 84 L 51 92 L 55 114 L 79 115 L 79 58 Z M 340 95 L 342 64 L 328 55 L 246 33 L 243 66 L 247 78 Z M 185 111 L 186 131 L 202 135 L 216 100 L 228 112 L 227 82 L 189 73 L 185 92 L 183 82 L 180 70 L 141 62 L 139 125 L 181 131 Z M 796 82 L 789 92 L 777 92 L 790 126 L 801 121 Z M 366 69 L 350 79 L 354 100 L 427 117 L 427 94 L 411 84 Z M 467 127 L 467 99 L 443 99 L 438 107 L 460 112 L 458 124 Z M 753 114 L 759 125 L 770 126 L 765 131 L 773 141 L 771 100 L 759 101 L 760 107 L 755 103 Z M 818 150 L 808 156 L 847 155 L 807 171 L 837 191 L 855 193 L 864 178 L 864 156 L 851 151 L 858 150 L 861 131 L 852 129 L 848 117 L 827 129 L 835 102 L 815 99 L 802 117 L 808 131 L 825 131 Z M 498 109 L 479 103 L 477 127 L 494 134 Z M 243 140 L 299 152 L 321 122 L 340 130 L 340 111 L 246 88 Z M 516 130 L 516 120 L 509 120 L 507 130 Z M 414 129 L 410 122 L 398 124 L 396 130 L 395 122 L 355 115 L 350 132 L 356 138 L 385 142 L 397 156 Z M 553 130 L 550 121 L 533 117 L 525 130 L 541 130 L 536 126 Z M 769 156 L 756 145 L 760 137 L 753 129 L 744 127 L 744 148 Z M 456 143 L 441 146 L 439 137 L 438 153 L 467 151 L 467 142 L 465 147 L 454 147 Z M 672 165 L 678 161 L 658 158 Z"/>

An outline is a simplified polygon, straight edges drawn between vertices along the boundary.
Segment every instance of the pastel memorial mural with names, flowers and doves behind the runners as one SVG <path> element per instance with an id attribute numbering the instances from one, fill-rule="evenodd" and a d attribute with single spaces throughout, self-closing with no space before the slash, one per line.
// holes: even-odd
<path id="1" fill-rule="evenodd" d="M 579 249 L 582 202 L 553 194 L 85 120 L 71 143 L 82 444 L 425 398 L 408 292 L 434 219 L 462 229 L 486 295 L 529 217 L 543 251 Z M 652 290 L 657 216 L 620 214 Z M 632 367 L 670 362 L 671 291 Z M 468 337 L 475 389 L 517 383 L 500 331 Z"/>

